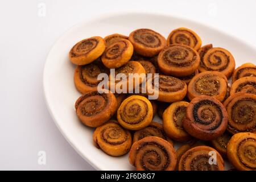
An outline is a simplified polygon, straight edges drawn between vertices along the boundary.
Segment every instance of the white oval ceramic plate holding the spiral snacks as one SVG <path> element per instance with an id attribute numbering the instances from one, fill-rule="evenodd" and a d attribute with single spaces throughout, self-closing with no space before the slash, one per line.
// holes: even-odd
<path id="1" fill-rule="evenodd" d="M 127 155 L 112 157 L 93 146 L 93 129 L 82 125 L 76 117 L 75 101 L 80 96 L 73 84 L 75 65 L 68 60 L 71 47 L 90 36 L 106 36 L 113 33 L 129 35 L 137 28 L 151 28 L 165 36 L 177 27 L 188 27 L 197 32 L 203 45 L 212 43 L 232 52 L 237 66 L 256 61 L 256 50 L 241 40 L 223 32 L 189 20 L 154 14 L 115 14 L 81 22 L 65 32 L 52 47 L 44 67 L 43 84 L 46 103 L 53 121 L 75 148 L 94 168 L 101 170 L 134 169 Z M 155 118 L 154 121 L 160 121 Z M 177 146 L 175 146 L 177 147 Z"/>

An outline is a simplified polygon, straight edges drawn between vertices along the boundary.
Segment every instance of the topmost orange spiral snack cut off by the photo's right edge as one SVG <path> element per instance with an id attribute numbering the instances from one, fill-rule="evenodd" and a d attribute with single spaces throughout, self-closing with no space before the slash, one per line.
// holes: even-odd
<path id="1" fill-rule="evenodd" d="M 256 66 L 253 63 L 245 63 L 238 67 L 232 75 L 232 82 L 239 78 L 253 76 L 256 77 Z"/>

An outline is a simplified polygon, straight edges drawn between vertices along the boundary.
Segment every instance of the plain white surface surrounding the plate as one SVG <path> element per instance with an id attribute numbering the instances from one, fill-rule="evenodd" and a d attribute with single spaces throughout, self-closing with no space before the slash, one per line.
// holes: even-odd
<path id="1" fill-rule="evenodd" d="M 44 17 L 38 15 L 40 3 L 46 5 Z M 43 67 L 51 46 L 68 28 L 100 14 L 123 11 L 163 13 L 196 20 L 256 47 L 256 1 L 253 0 L 1 0 L 0 169 L 93 169 L 69 146 L 47 111 Z M 46 151 L 46 165 L 38 164 L 39 151 Z"/>

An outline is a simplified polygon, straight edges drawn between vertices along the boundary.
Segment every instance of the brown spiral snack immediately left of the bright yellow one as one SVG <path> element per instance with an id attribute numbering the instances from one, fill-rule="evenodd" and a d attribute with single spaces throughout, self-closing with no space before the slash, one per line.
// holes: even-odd
<path id="1" fill-rule="evenodd" d="M 75 109 L 84 125 L 98 127 L 117 111 L 117 99 L 113 93 L 87 92 L 77 99 Z"/>

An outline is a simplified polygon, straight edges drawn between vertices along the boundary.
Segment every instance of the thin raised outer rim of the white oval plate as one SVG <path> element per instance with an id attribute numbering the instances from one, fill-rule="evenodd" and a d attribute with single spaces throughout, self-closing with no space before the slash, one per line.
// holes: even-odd
<path id="1" fill-rule="evenodd" d="M 250 44 L 248 42 L 246 42 L 245 40 L 234 36 L 234 35 L 230 35 L 228 34 L 228 32 L 223 31 L 223 30 L 218 30 L 218 28 L 216 27 L 212 27 L 209 24 L 204 24 L 204 23 L 200 23 L 196 20 L 193 19 L 189 19 L 189 18 L 183 18 L 183 17 L 179 17 L 179 16 L 175 16 L 175 15 L 171 15 L 171 14 L 167 14 L 167 13 L 148 13 L 147 11 L 142 11 L 142 12 L 138 12 L 138 11 L 115 11 L 114 13 L 102 13 L 99 15 L 95 15 L 90 17 L 89 19 L 84 19 L 81 22 L 78 22 L 76 24 L 74 24 L 73 26 L 71 26 L 70 28 L 68 28 L 63 34 L 61 34 L 59 36 L 59 38 L 57 38 L 55 40 L 55 42 L 52 44 L 47 57 L 46 57 L 46 61 L 44 63 L 44 68 L 43 68 L 43 97 L 44 97 L 44 101 L 46 103 L 46 107 L 47 110 L 49 112 L 49 114 L 51 115 L 51 118 L 53 120 L 53 122 L 55 123 L 55 125 L 57 126 L 57 129 L 60 131 L 61 135 L 63 135 L 63 137 L 65 138 L 65 140 L 67 140 L 67 142 L 72 146 L 72 148 L 77 152 L 77 154 L 79 154 L 82 159 L 84 159 L 87 163 L 90 164 L 90 166 L 92 166 L 94 169 L 96 170 L 102 170 L 102 168 L 100 166 L 98 166 L 97 163 L 93 163 L 92 159 L 89 159 L 88 156 L 82 154 L 82 152 L 80 152 L 80 150 L 77 148 L 77 146 L 75 146 L 75 144 L 72 143 L 72 141 L 70 140 L 69 136 L 67 136 L 67 134 L 64 132 L 64 129 L 59 125 L 59 122 L 57 121 L 57 118 L 55 117 L 55 115 L 52 112 L 51 106 L 49 104 L 49 96 L 47 95 L 47 76 L 46 76 L 46 72 L 47 72 L 47 67 L 49 65 L 49 59 L 50 56 L 53 52 L 54 47 L 56 46 L 57 43 L 59 43 L 61 41 L 62 38 L 64 38 L 67 34 L 69 34 L 69 32 L 71 32 L 72 30 L 82 26 L 82 24 L 86 24 L 86 23 L 91 23 L 97 20 L 101 20 L 101 19 L 108 19 L 108 18 L 112 18 L 114 16 L 129 16 L 129 15 L 150 15 L 150 16 L 166 16 L 166 18 L 175 18 L 175 19 L 180 19 L 180 20 L 184 20 L 184 21 L 189 21 L 193 24 L 198 24 L 200 26 L 204 26 L 207 28 L 210 28 L 213 31 L 219 32 L 220 34 L 223 34 L 225 36 L 228 36 L 229 38 L 233 38 L 236 39 L 238 42 L 241 42 L 243 44 L 245 44 L 248 47 L 251 47 L 252 49 L 256 50 L 256 47 L 253 44 Z"/>

